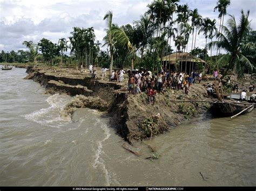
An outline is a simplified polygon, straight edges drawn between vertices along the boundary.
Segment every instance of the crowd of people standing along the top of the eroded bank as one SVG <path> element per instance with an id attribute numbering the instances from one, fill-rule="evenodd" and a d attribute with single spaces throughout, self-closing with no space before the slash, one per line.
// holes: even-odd
<path id="1" fill-rule="evenodd" d="M 109 69 L 103 67 L 102 72 L 102 80 L 106 77 L 106 72 Z M 93 65 L 89 65 L 89 73 L 93 78 L 96 77 L 96 68 Z M 165 71 L 161 69 L 158 73 L 153 74 L 148 69 L 136 69 L 136 70 L 128 70 L 125 72 L 123 68 L 120 69 L 113 69 L 110 81 L 113 82 L 123 82 L 124 81 L 124 74 L 128 75 L 128 86 L 127 89 L 129 90 L 129 95 L 131 94 L 140 94 L 143 91 L 146 92 L 148 97 L 148 103 L 153 103 L 156 98 L 157 93 L 165 94 L 167 88 L 182 90 L 184 94 L 188 95 L 188 91 L 192 84 L 195 84 L 196 81 L 201 83 L 202 80 L 202 73 L 193 70 L 191 74 L 188 76 L 185 75 L 184 72 L 176 72 L 176 71 Z M 217 70 L 213 72 L 213 79 L 217 79 L 220 76 Z M 214 91 L 219 88 L 221 91 L 221 82 L 218 81 L 218 87 L 214 87 L 214 84 L 208 84 L 207 86 L 207 95 L 212 96 Z M 249 91 L 253 91 L 254 86 L 249 87 Z M 238 84 L 234 84 L 233 86 L 233 93 L 235 90 L 238 92 Z M 244 96 L 245 94 L 245 96 Z M 244 99 L 246 97 L 245 91 L 241 92 L 240 99 Z M 256 96 L 255 96 L 256 97 Z"/>

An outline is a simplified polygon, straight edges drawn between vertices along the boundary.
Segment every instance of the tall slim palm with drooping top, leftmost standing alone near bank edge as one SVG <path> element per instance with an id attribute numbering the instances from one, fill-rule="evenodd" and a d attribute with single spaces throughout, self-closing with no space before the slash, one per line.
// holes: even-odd
<path id="1" fill-rule="evenodd" d="M 110 76 L 112 73 L 112 68 L 113 68 L 113 53 L 114 53 L 114 41 L 113 41 L 113 33 L 112 33 L 112 18 L 113 18 L 113 13 L 112 11 L 109 11 L 106 13 L 106 15 L 104 16 L 104 20 L 106 20 L 106 24 L 107 24 L 107 29 L 106 29 L 106 36 L 104 37 L 105 40 L 105 44 L 103 46 L 105 46 L 107 44 L 107 46 L 109 46 L 109 51 L 110 51 L 110 66 L 109 66 L 109 72 L 110 72 Z"/>

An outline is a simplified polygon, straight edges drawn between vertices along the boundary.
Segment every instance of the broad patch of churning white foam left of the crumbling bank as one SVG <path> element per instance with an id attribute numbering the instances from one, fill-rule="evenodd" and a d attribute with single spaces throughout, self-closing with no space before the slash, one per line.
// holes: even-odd
<path id="1" fill-rule="evenodd" d="M 24 117 L 31 122 L 59 128 L 59 126 L 71 122 L 70 119 L 60 117 L 60 111 L 68 101 L 69 100 L 60 96 L 59 94 L 54 94 L 46 99 L 46 102 L 50 104 L 49 108 L 34 111 L 31 114 L 25 115 Z"/>

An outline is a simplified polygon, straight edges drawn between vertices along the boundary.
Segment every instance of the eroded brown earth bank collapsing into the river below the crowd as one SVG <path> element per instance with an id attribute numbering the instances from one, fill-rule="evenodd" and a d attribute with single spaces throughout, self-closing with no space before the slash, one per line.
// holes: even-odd
<path id="1" fill-rule="evenodd" d="M 63 117 L 71 116 L 77 108 L 106 111 L 112 117 L 111 125 L 129 143 L 169 131 L 184 120 L 205 112 L 210 104 L 186 102 L 209 100 L 202 84 L 183 90 L 169 89 L 157 94 L 154 105 L 147 104 L 146 93 L 129 95 L 127 80 L 124 83 L 92 79 L 76 69 L 29 67 L 25 79 L 33 79 L 46 88 L 46 93 L 66 93 L 75 96 L 66 104 Z"/>

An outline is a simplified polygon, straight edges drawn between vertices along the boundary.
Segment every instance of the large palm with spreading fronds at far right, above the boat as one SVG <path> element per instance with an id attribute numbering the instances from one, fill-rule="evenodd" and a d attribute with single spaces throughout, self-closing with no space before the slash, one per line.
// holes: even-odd
<path id="1" fill-rule="evenodd" d="M 228 69 L 233 69 L 234 72 L 238 74 L 238 79 L 244 77 L 243 67 L 253 69 L 253 65 L 248 60 L 248 58 L 241 53 L 242 40 L 251 31 L 250 22 L 248 16 L 250 11 L 247 11 L 247 14 L 244 14 L 244 11 L 241 10 L 240 23 L 237 25 L 235 22 L 234 16 L 230 16 L 227 24 L 228 27 L 222 26 L 223 33 L 217 32 L 216 36 L 219 38 L 219 41 L 212 41 L 208 44 L 208 47 L 217 47 L 222 48 L 227 51 L 227 54 L 221 56 L 218 62 L 223 60 L 228 60 L 228 67 L 224 76 L 227 74 Z M 218 66 L 217 66 L 218 67 Z"/>

